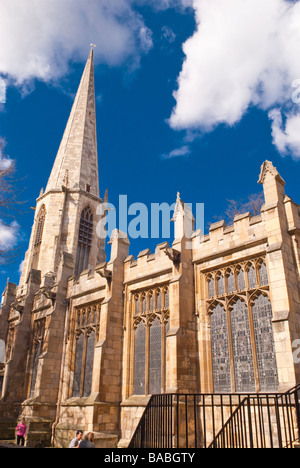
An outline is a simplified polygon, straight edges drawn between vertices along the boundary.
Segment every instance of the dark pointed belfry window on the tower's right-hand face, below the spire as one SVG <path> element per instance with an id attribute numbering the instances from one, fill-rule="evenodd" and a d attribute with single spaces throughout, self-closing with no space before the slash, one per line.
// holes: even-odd
<path id="1" fill-rule="evenodd" d="M 89 265 L 93 238 L 93 213 L 87 206 L 81 213 L 75 274 L 79 275 Z"/>

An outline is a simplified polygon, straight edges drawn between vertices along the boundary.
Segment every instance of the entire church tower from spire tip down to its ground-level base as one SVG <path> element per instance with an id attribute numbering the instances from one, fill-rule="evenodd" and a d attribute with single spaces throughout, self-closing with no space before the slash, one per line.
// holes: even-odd
<path id="1" fill-rule="evenodd" d="M 105 261 L 105 241 L 96 234 L 102 203 L 92 49 L 46 190 L 37 199 L 20 284 L 0 316 L 0 328 L 3 317 L 9 322 L 0 418 L 3 405 L 11 416 L 22 405 L 32 433 L 36 408 L 45 424 L 56 414 L 68 280 Z"/>

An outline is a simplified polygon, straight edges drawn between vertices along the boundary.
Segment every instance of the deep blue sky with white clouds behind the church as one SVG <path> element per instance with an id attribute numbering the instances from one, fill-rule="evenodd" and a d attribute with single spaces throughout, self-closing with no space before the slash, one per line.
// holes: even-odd
<path id="1" fill-rule="evenodd" d="M 91 42 L 102 197 L 108 189 L 115 206 L 124 194 L 150 207 L 172 204 L 179 191 L 185 202 L 205 204 L 207 226 L 227 199 L 261 191 L 268 159 L 299 202 L 298 1 L 76 0 L 78 16 L 70 0 L 51 2 L 57 9 L 47 11 L 49 1 L 37 10 L 23 0 L 35 13 L 28 24 L 28 8 L 0 0 L 8 49 L 0 52 L 0 164 L 15 160 L 25 201 L 11 242 L 16 259 L 0 265 L 1 290 L 7 277 L 19 281 L 30 207 L 46 186 Z M 162 240 L 134 240 L 130 253 L 154 251 Z"/>

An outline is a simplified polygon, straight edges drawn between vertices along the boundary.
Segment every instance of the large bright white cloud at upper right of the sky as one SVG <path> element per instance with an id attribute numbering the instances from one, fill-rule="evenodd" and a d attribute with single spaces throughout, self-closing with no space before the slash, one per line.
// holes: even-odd
<path id="1" fill-rule="evenodd" d="M 194 0 L 194 9 L 197 30 L 184 44 L 172 128 L 206 132 L 234 125 L 251 106 L 280 108 L 286 128 L 272 121 L 274 143 L 279 150 L 294 148 L 300 109 L 293 117 L 290 111 L 292 84 L 300 78 L 300 1 Z"/>

